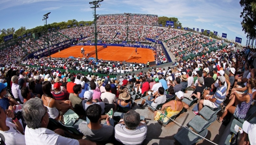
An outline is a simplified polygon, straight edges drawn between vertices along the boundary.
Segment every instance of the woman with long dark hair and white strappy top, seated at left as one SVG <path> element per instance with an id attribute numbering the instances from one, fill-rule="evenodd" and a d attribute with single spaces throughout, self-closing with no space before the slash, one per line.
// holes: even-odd
<path id="1" fill-rule="evenodd" d="M 42 100 L 44 106 L 49 110 L 49 117 L 55 120 L 61 120 L 61 115 L 65 114 L 68 109 L 73 109 L 72 103 L 69 100 L 66 101 L 59 101 L 55 100 L 54 96 L 52 95 L 52 84 L 50 81 L 44 81 L 43 83 L 43 95 Z"/>

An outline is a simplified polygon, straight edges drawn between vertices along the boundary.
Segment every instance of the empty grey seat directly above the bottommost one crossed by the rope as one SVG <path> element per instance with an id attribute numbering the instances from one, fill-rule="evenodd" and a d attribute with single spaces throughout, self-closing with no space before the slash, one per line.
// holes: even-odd
<path id="1" fill-rule="evenodd" d="M 209 121 L 206 121 L 199 115 L 196 115 L 191 121 L 188 122 L 188 125 L 195 129 L 196 132 L 200 133 L 204 129 L 208 128 L 216 119 L 217 115 L 213 116 Z"/>

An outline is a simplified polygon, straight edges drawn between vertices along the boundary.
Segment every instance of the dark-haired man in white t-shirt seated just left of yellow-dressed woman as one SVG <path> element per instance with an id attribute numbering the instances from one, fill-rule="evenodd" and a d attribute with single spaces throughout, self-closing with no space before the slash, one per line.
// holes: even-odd
<path id="1" fill-rule="evenodd" d="M 166 95 L 164 95 L 164 87 L 158 88 L 158 93 L 156 95 L 156 98 L 153 98 L 151 96 L 143 97 L 141 104 L 138 104 L 138 107 L 143 108 L 143 105 L 145 102 L 149 105 L 151 105 L 153 108 L 156 108 L 157 105 L 163 104 L 166 102 Z M 146 100 L 148 98 L 148 100 Z"/>

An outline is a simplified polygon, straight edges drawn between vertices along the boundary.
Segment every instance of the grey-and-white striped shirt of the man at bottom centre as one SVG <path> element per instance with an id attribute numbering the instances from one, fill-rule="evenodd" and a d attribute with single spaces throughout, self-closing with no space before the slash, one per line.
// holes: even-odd
<path id="1" fill-rule="evenodd" d="M 129 130 L 125 128 L 125 125 L 119 123 L 115 126 L 115 138 L 118 142 L 125 145 L 138 145 L 142 144 L 147 135 L 147 126 L 145 122 L 141 122 L 144 125 L 138 126 L 135 130 Z"/>

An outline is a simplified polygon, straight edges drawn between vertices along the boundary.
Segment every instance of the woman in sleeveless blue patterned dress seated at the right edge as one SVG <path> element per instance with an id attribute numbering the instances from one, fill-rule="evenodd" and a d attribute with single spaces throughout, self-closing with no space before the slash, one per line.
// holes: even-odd
<path id="1" fill-rule="evenodd" d="M 246 116 L 249 107 L 251 106 L 252 102 L 252 89 L 255 87 L 255 80 L 253 78 L 248 79 L 246 88 L 247 93 L 237 94 L 231 98 L 230 102 L 226 107 L 223 107 L 224 113 L 222 116 L 218 116 L 217 120 L 219 122 L 223 121 L 223 118 L 229 113 L 236 115 L 238 118 L 243 119 Z M 232 106 L 235 103 L 235 106 Z M 224 109 L 225 108 L 225 109 Z"/>

